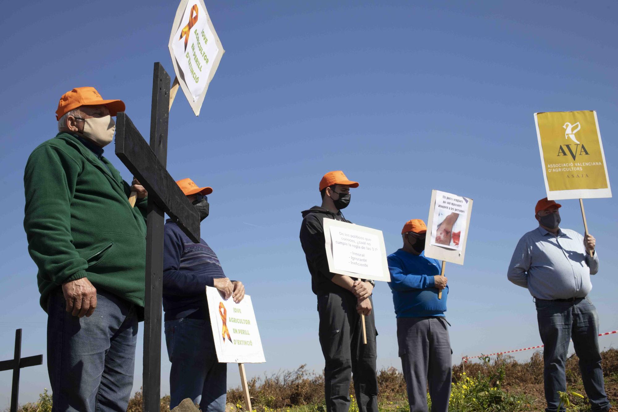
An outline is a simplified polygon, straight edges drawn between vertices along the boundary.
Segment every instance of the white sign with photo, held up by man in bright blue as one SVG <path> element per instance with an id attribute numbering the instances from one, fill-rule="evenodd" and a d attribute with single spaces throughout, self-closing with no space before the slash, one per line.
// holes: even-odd
<path id="1" fill-rule="evenodd" d="M 431 191 L 431 202 L 425 238 L 425 256 L 442 260 L 441 275 L 446 262 L 463 265 L 470 228 L 472 199 L 447 192 Z M 438 298 L 442 298 L 439 291 Z"/>

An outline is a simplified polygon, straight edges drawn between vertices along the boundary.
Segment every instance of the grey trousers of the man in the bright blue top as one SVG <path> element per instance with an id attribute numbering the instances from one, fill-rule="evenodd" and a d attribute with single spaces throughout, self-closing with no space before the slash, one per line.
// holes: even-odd
<path id="1" fill-rule="evenodd" d="M 410 412 L 428 412 L 428 386 L 431 412 L 447 412 L 451 396 L 452 351 L 446 319 L 399 317 L 397 343 Z"/>

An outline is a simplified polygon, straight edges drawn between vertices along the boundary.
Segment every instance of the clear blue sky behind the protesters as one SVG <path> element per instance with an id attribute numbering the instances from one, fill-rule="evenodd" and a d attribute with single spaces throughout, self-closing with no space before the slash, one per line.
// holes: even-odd
<path id="1" fill-rule="evenodd" d="M 153 62 L 168 72 L 176 1 L 8 2 L 0 67 L 0 359 L 45 353 L 46 314 L 23 233 L 23 168 L 56 134 L 62 93 L 91 85 L 121 98 L 144 135 Z M 520 236 L 544 197 L 533 113 L 595 109 L 609 176 L 618 184 L 615 2 L 240 2 L 206 7 L 226 49 L 196 118 L 178 95 L 168 168 L 214 187 L 203 238 L 252 295 L 266 364 L 249 376 L 307 363 L 321 371 L 316 299 L 298 242 L 300 211 L 318 182 L 344 170 L 360 182 L 345 216 L 400 247 L 410 218 L 428 217 L 431 189 L 475 200 L 465 265 L 447 265 L 453 361 L 540 344 L 527 290 L 506 279 Z M 114 155 L 109 160 L 130 174 Z M 616 191 L 614 186 L 614 191 Z M 601 269 L 591 299 L 601 331 L 616 320 L 615 199 L 586 200 Z M 562 226 L 583 232 L 577 200 Z M 612 243 L 613 242 L 613 243 Z M 374 292 L 378 364 L 400 367 L 391 292 Z M 142 383 L 142 350 L 135 387 Z M 618 343 L 599 338 L 601 348 Z M 169 362 L 162 359 L 162 393 Z M 517 356 L 525 359 L 525 352 Z M 0 372 L 0 408 L 11 373 Z M 237 385 L 229 366 L 229 384 Z M 46 367 L 22 370 L 21 400 L 49 387 Z"/>

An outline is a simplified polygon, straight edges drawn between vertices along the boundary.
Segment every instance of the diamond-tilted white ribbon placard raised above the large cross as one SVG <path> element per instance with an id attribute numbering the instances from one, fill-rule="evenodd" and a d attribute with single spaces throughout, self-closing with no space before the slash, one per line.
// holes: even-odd
<path id="1" fill-rule="evenodd" d="M 225 53 L 203 0 L 180 2 L 167 48 L 177 82 L 198 116 L 208 85 Z"/>

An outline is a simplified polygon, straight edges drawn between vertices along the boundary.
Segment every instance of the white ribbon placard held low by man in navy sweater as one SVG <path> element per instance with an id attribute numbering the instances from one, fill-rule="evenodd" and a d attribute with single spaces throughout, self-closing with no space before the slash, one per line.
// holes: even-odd
<path id="1" fill-rule="evenodd" d="M 266 362 L 251 296 L 245 294 L 240 303 L 234 303 L 232 298 L 223 299 L 217 288 L 206 286 L 206 299 L 219 362 Z"/>

